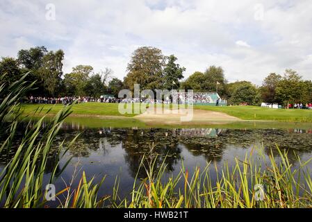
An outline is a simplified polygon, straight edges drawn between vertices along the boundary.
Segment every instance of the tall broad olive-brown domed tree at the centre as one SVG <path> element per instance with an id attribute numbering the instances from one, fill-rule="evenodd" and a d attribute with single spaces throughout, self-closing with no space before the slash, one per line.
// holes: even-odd
<path id="1" fill-rule="evenodd" d="M 160 49 L 147 46 L 136 49 L 126 69 L 126 87 L 133 90 L 134 84 L 140 84 L 141 89 L 160 89 L 164 65 L 164 56 Z"/>

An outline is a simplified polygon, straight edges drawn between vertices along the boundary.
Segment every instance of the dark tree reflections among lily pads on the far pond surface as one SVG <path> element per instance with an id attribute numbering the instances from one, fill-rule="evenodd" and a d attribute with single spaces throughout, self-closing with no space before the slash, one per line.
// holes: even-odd
<path id="1" fill-rule="evenodd" d="M 66 128 L 65 135 L 73 137 L 76 130 Z M 70 133 L 69 133 L 70 132 Z M 121 147 L 124 161 L 131 176 L 136 176 L 140 162 L 145 153 L 154 147 L 154 154 L 158 154 L 158 164 L 165 159 L 167 171 L 174 171 L 179 160 L 186 158 L 181 155 L 182 150 L 188 155 L 204 157 L 207 162 L 222 162 L 224 152 L 229 146 L 247 149 L 254 145 L 264 146 L 265 153 L 270 154 L 270 148 L 277 144 L 279 148 L 290 152 L 290 160 L 295 160 L 297 154 L 310 153 L 312 148 L 311 130 L 277 130 L 277 129 L 217 129 L 217 128 L 100 128 L 85 129 L 76 144 L 69 150 L 74 157 L 90 157 L 92 152 L 101 151 L 101 155 L 108 155 L 115 147 Z M 71 135 L 71 136 L 70 136 Z M 278 153 L 273 152 L 274 155 Z M 142 172 L 141 172 L 142 171 Z M 140 176 L 145 176 L 141 169 Z"/>

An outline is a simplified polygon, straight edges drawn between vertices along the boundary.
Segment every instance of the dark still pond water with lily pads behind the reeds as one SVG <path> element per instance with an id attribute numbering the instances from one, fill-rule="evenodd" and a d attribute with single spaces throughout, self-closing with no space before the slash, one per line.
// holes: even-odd
<path id="1" fill-rule="evenodd" d="M 81 173 L 85 171 L 89 179 L 95 177 L 95 182 L 106 176 L 99 191 L 101 196 L 112 193 L 116 176 L 120 179 L 120 196 L 127 196 L 133 187 L 136 174 L 138 173 L 139 178 L 146 177 L 143 169 L 139 171 L 139 166 L 143 155 L 151 147 L 154 147 L 152 152 L 159 155 L 158 162 L 165 159 L 167 164 L 164 180 L 179 173 L 181 162 L 190 173 L 195 167 L 204 169 L 207 162 L 211 162 L 213 180 L 216 177 L 215 166 L 221 168 L 226 162 L 231 166 L 235 163 L 235 157 L 243 160 L 252 148 L 261 146 L 264 147 L 266 157 L 270 148 L 277 155 L 277 144 L 280 148 L 287 149 L 294 166 L 298 164 L 294 151 L 302 161 L 312 157 L 312 130 L 309 128 L 88 128 L 81 124 L 63 123 L 55 146 L 61 144 L 63 139 L 66 146 L 77 134 L 80 134 L 79 138 L 65 157 L 60 159 L 56 152 L 52 152 L 49 158 L 50 164 L 45 171 L 47 178 L 51 173 L 49 166 L 52 167 L 55 162 L 60 161 L 62 167 L 72 157 L 56 182 L 57 191 L 69 185 L 73 175 L 76 178 L 72 186 L 76 187 Z M 15 143 L 19 144 L 18 137 Z M 0 171 L 5 163 L 6 155 L 0 155 Z"/>

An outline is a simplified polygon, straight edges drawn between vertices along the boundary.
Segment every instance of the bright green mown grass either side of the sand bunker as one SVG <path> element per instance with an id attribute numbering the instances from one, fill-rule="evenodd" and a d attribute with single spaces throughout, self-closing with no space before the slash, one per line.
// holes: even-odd
<path id="1" fill-rule="evenodd" d="M 41 114 L 49 111 L 50 114 L 56 114 L 63 105 L 45 105 L 45 104 L 25 104 L 22 109 L 25 114 L 31 114 L 35 110 L 41 110 Z M 208 105 L 195 105 L 195 109 L 211 110 L 215 112 L 224 112 L 233 117 L 244 120 L 263 120 L 263 121 L 300 121 L 312 122 L 312 110 L 274 110 L 270 108 L 261 108 L 257 106 L 227 106 L 214 107 Z M 100 115 L 100 116 L 124 116 L 133 117 L 136 114 L 120 114 L 117 103 L 80 103 L 74 105 L 73 114 L 77 115 Z"/>

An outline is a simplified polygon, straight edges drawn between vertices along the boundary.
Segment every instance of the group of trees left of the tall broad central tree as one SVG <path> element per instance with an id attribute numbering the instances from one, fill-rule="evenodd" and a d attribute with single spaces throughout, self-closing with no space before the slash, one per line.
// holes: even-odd
<path id="1" fill-rule="evenodd" d="M 69 74 L 63 74 L 64 52 L 48 51 L 44 46 L 18 51 L 17 58 L 5 57 L 0 61 L 3 83 L 13 83 L 29 72 L 26 80 L 35 82 L 29 92 L 33 96 L 94 96 L 115 94 L 123 87 L 122 80 L 113 78 L 106 67 L 97 73 L 90 65 L 77 65 Z M 1 84 L 2 84 L 1 83 Z"/>

